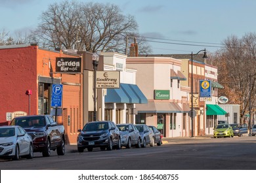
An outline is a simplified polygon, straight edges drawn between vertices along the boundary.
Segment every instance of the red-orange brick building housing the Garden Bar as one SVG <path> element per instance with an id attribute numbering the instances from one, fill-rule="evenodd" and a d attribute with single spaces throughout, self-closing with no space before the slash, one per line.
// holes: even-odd
<path id="1" fill-rule="evenodd" d="M 17 111 L 51 114 L 51 87 L 63 84 L 62 116 L 57 122 L 65 126 L 68 143 L 75 143 L 77 129 L 83 126 L 83 78 L 81 73 L 56 72 L 56 58 L 79 56 L 36 44 L 0 46 L 0 56 L 0 125 L 9 124 Z M 28 90 L 31 95 L 26 95 Z"/>

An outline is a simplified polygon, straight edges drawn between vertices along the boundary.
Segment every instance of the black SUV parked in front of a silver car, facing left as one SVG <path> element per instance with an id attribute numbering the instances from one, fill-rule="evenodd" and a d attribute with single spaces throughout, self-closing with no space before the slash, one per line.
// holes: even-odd
<path id="1" fill-rule="evenodd" d="M 77 150 L 83 152 L 85 148 L 89 152 L 93 148 L 100 147 L 100 150 L 121 149 L 121 139 L 119 129 L 114 122 L 99 121 L 88 122 L 83 129 L 78 130 L 80 133 L 77 137 Z"/>

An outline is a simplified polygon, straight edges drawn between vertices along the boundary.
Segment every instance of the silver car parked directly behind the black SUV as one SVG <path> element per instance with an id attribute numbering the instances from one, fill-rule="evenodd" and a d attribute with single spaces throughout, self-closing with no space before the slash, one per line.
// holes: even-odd
<path id="1" fill-rule="evenodd" d="M 133 124 L 117 124 L 120 132 L 121 146 L 131 148 L 131 146 L 141 147 L 139 130 Z"/>

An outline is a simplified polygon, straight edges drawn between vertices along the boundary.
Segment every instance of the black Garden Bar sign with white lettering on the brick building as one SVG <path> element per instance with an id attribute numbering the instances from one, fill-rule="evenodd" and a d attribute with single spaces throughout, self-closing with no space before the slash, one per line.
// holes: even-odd
<path id="1" fill-rule="evenodd" d="M 57 73 L 81 73 L 81 58 L 56 58 Z"/>

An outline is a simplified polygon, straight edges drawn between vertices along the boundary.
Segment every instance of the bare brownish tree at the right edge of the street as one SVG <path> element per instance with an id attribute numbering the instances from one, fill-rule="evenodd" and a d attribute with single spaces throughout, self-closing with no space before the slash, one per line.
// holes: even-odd
<path id="1" fill-rule="evenodd" d="M 224 86 L 219 95 L 227 96 L 229 103 L 240 104 L 240 117 L 243 119 L 249 110 L 249 93 L 252 104 L 256 99 L 256 34 L 245 34 L 242 39 L 233 35 L 223 43 L 224 48 L 218 50 L 219 54 L 212 60 L 219 68 L 218 80 Z"/>

